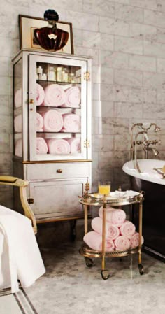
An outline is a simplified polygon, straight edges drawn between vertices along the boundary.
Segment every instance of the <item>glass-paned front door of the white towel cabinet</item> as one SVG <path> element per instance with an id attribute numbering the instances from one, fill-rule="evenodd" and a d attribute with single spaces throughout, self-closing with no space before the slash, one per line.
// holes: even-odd
<path id="1" fill-rule="evenodd" d="M 30 160 L 87 159 L 87 62 L 29 57 Z"/>

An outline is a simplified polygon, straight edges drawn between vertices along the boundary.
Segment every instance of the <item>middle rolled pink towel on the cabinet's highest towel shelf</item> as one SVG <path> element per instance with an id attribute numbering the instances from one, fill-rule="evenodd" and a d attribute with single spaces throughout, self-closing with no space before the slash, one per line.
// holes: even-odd
<path id="1" fill-rule="evenodd" d="M 65 92 L 61 85 L 50 84 L 45 88 L 44 106 L 62 106 L 65 103 Z"/>

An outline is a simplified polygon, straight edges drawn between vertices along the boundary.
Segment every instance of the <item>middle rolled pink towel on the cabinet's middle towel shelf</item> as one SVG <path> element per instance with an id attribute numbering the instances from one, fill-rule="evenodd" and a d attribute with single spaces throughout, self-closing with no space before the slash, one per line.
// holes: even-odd
<path id="1" fill-rule="evenodd" d="M 50 132 L 59 132 L 63 126 L 63 119 L 61 113 L 57 110 L 50 109 L 43 115 L 43 130 Z"/>

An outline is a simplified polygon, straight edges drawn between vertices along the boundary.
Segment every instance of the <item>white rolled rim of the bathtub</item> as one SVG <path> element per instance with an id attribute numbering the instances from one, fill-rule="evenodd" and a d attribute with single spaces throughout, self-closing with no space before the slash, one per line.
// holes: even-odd
<path id="1" fill-rule="evenodd" d="M 162 159 L 137 159 L 138 162 L 148 162 L 151 163 L 156 161 L 156 162 L 160 162 L 160 163 L 164 163 L 165 164 L 165 161 L 162 160 Z M 129 160 L 128 162 L 125 162 L 124 165 L 122 166 L 122 170 L 124 171 L 124 173 L 127 173 L 129 176 L 133 176 L 135 178 L 139 178 L 141 180 L 145 180 L 145 181 L 149 181 L 149 182 L 152 182 L 152 183 L 157 183 L 159 185 L 165 185 L 165 179 L 161 178 L 161 175 L 159 175 L 157 173 L 157 176 L 160 176 L 159 178 L 153 178 L 153 177 L 148 177 L 148 176 L 145 176 L 145 173 L 139 173 L 138 171 L 136 171 L 136 169 L 133 168 L 133 166 L 131 166 L 131 164 L 134 162 L 134 160 Z M 158 166 L 159 167 L 159 166 Z M 155 172 L 156 173 L 156 172 Z"/>

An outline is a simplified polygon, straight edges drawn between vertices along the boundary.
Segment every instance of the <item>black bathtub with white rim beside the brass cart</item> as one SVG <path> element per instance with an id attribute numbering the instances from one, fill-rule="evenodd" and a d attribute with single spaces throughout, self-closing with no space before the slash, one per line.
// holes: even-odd
<path id="1" fill-rule="evenodd" d="M 165 262 L 165 178 L 164 160 L 138 159 L 139 173 L 134 160 L 126 162 L 123 171 L 130 177 L 131 190 L 145 192 L 143 202 L 144 250 Z M 157 170 L 155 170 L 157 169 Z M 165 167 L 164 169 L 165 170 Z M 136 210 L 132 220 L 138 227 Z"/>

